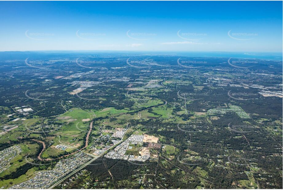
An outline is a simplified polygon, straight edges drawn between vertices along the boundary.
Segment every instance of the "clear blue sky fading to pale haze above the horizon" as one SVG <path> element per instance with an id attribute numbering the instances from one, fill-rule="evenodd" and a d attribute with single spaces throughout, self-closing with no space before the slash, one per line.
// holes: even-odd
<path id="1" fill-rule="evenodd" d="M 0 51 L 282 52 L 281 1 L 0 2 L 0 18 Z"/>

